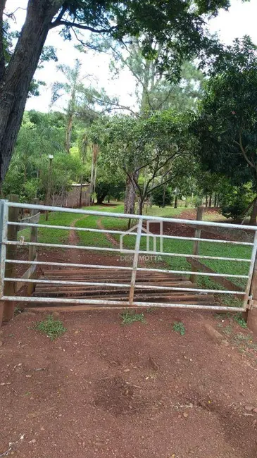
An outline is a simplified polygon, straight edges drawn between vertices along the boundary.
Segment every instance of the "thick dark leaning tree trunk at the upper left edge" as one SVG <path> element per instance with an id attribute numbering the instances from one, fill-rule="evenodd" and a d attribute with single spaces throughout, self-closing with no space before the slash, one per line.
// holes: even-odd
<path id="1" fill-rule="evenodd" d="M 49 26 L 63 0 L 29 0 L 11 61 L 0 80 L 0 184 L 8 170 L 23 112 Z"/>

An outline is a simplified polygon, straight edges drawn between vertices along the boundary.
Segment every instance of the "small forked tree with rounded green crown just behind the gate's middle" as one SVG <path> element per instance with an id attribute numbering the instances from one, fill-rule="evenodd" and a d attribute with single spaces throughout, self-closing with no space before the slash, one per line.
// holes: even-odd
<path id="1" fill-rule="evenodd" d="M 139 214 L 154 189 L 163 187 L 184 173 L 181 161 L 191 155 L 187 118 L 171 111 L 153 113 L 149 118 L 114 116 L 92 125 L 98 132 L 103 160 L 113 171 L 120 168 L 139 196 Z M 137 163 L 137 168 L 134 164 Z M 144 173 L 144 182 L 140 182 Z"/>

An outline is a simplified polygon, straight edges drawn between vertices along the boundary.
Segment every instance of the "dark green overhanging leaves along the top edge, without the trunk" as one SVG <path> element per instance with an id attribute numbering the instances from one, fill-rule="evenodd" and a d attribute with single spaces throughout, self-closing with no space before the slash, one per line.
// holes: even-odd
<path id="1" fill-rule="evenodd" d="M 210 37 L 206 30 L 206 14 L 216 16 L 219 8 L 228 6 L 230 0 L 196 0 L 194 4 L 184 0 L 133 0 L 125 3 L 121 0 L 94 3 L 68 0 L 65 2 L 67 16 L 65 20 L 63 16 L 62 34 L 70 39 L 70 27 L 80 23 L 85 28 L 103 29 L 109 37 L 120 41 L 127 35 L 137 37 L 142 56 L 158 58 L 160 73 L 172 68 L 168 78 L 174 81 L 180 78 L 185 58 L 199 56 L 203 50 L 212 55 L 218 52 L 217 39 Z M 161 49 L 155 49 L 154 42 L 161 43 Z M 86 44 L 95 47 L 92 39 Z M 104 45 L 99 48 L 103 50 Z"/>

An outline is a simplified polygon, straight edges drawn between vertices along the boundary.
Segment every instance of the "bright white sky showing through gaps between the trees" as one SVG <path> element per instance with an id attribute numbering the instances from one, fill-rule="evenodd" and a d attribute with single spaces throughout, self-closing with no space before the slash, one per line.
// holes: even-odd
<path id="1" fill-rule="evenodd" d="M 214 18 L 209 23 L 209 30 L 216 32 L 218 37 L 225 44 L 232 43 L 236 37 L 250 35 L 254 43 L 257 44 L 257 1 L 251 0 L 242 3 L 241 0 L 231 0 L 230 11 L 220 11 L 217 18 Z M 27 0 L 7 0 L 6 10 L 15 11 L 16 23 L 13 24 L 14 30 L 20 30 L 25 19 L 25 8 Z M 23 9 L 24 8 L 24 9 Z M 128 70 L 123 70 L 119 78 L 113 79 L 113 75 L 109 70 L 109 56 L 104 54 L 96 54 L 93 51 L 80 53 L 74 48 L 77 41 L 74 39 L 71 42 L 64 41 L 59 35 L 59 30 L 56 28 L 49 32 L 46 39 L 46 45 L 52 45 L 57 49 L 58 63 L 45 63 L 42 70 L 37 70 L 35 78 L 46 82 L 39 97 L 31 97 L 27 101 L 26 109 L 35 109 L 37 111 L 48 111 L 51 101 L 51 84 L 56 81 L 64 82 L 64 75 L 56 68 L 58 64 L 68 64 L 73 66 L 75 58 L 82 62 L 82 75 L 90 74 L 94 79 L 94 84 L 98 88 L 104 87 L 110 96 L 118 96 L 120 104 L 125 106 L 134 105 L 134 78 Z M 67 100 L 65 97 L 58 99 L 52 109 L 62 110 Z"/>

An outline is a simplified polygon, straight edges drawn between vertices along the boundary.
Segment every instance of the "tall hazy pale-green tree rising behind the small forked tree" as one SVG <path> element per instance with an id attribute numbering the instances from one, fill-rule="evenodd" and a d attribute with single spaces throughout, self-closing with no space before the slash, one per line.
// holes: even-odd
<path id="1" fill-rule="evenodd" d="M 113 109 L 129 111 L 133 116 L 148 118 L 154 111 L 164 109 L 176 109 L 184 112 L 192 109 L 199 95 L 200 82 L 203 74 L 192 63 L 185 62 L 181 66 L 181 72 L 175 72 L 173 68 L 161 70 L 160 59 L 163 52 L 163 44 L 152 40 L 149 44 L 148 56 L 144 55 L 142 37 L 136 37 L 130 44 L 120 44 L 111 39 L 97 37 L 94 39 L 94 47 L 100 51 L 106 51 L 112 56 L 111 70 L 117 77 L 120 70 L 127 68 L 136 83 L 137 106 L 120 106 L 119 101 L 113 101 Z M 80 47 L 81 49 L 81 47 Z M 167 56 L 172 59 L 172 52 Z M 137 171 L 137 158 L 134 163 L 134 176 Z M 139 175 L 139 171 L 137 172 Z M 138 176 L 137 176 L 138 179 Z M 134 213 L 136 192 L 132 182 L 127 178 L 124 211 Z"/>

